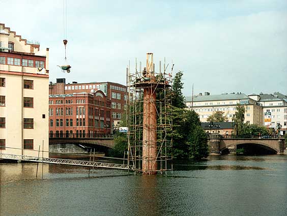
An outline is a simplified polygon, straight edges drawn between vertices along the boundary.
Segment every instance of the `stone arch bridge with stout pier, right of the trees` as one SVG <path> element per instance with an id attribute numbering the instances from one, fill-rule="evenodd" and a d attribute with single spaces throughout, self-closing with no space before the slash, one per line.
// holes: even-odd
<path id="1" fill-rule="evenodd" d="M 260 145 L 270 151 L 282 155 L 285 148 L 283 138 L 223 138 L 219 134 L 211 134 L 208 141 L 210 147 L 210 155 L 220 155 L 221 152 L 228 147 L 240 144 Z"/>

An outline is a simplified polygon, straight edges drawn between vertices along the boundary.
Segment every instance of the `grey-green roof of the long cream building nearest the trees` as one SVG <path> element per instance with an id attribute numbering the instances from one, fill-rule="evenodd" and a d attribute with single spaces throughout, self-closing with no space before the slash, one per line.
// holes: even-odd
<path id="1" fill-rule="evenodd" d="M 224 94 L 224 95 L 203 95 L 203 96 L 194 96 L 193 102 L 200 101 L 225 101 L 225 100 L 241 100 L 241 99 L 250 99 L 245 94 Z M 191 102 L 192 97 L 186 97 L 186 102 Z"/>

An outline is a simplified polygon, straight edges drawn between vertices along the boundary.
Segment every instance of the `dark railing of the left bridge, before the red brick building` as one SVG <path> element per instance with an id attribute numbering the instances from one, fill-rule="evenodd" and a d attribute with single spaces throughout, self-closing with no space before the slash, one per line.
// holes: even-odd
<path id="1" fill-rule="evenodd" d="M 113 134 L 49 133 L 49 138 L 113 138 Z"/>

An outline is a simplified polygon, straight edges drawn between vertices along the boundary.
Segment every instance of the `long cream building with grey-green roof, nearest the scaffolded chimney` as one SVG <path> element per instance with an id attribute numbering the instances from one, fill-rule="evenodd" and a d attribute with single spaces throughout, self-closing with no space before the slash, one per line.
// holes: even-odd
<path id="1" fill-rule="evenodd" d="M 193 100 L 192 97 L 186 97 L 187 108 L 194 109 L 202 122 L 207 122 L 207 118 L 215 111 L 224 112 L 228 121 L 232 121 L 237 104 L 245 106 L 245 122 L 263 126 L 262 105 L 245 94 L 210 95 L 209 92 L 205 92 L 204 95 L 194 96 Z"/>

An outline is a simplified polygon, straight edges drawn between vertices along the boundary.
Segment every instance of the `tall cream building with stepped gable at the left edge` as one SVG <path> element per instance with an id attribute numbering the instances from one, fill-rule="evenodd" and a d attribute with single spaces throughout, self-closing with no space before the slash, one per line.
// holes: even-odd
<path id="1" fill-rule="evenodd" d="M 38 156 L 39 146 L 49 150 L 48 59 L 48 49 L 40 50 L 39 43 L 22 39 L 0 23 L 2 153 Z"/>

